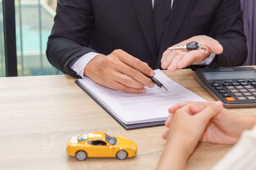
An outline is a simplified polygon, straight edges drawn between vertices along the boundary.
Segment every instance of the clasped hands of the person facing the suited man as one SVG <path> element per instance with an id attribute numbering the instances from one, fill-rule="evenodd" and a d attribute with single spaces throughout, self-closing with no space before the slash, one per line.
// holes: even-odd
<path id="1" fill-rule="evenodd" d="M 209 143 L 229 144 L 236 143 L 244 127 L 241 118 L 222 108 L 218 102 L 195 103 L 184 102 L 175 104 L 168 111 L 163 138 L 177 140 L 189 146 L 193 151 L 198 141 Z"/>

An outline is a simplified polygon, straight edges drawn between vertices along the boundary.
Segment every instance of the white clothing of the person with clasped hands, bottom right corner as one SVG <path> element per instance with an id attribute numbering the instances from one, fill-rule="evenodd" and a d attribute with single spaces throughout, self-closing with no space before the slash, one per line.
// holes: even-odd
<path id="1" fill-rule="evenodd" d="M 244 131 L 233 148 L 211 170 L 256 169 L 256 125 Z"/>

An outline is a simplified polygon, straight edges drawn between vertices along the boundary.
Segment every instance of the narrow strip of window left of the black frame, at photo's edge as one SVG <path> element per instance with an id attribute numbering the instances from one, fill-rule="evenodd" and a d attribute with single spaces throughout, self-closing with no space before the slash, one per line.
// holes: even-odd
<path id="1" fill-rule="evenodd" d="M 0 77 L 5 76 L 3 1 L 0 0 Z"/>

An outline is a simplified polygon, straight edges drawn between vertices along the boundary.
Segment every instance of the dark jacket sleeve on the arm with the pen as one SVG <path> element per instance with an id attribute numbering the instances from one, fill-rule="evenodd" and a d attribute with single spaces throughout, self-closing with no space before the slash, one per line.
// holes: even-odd
<path id="1" fill-rule="evenodd" d="M 59 0 L 46 55 L 52 66 L 78 78 L 70 69 L 89 48 L 94 15 L 91 0 Z"/>

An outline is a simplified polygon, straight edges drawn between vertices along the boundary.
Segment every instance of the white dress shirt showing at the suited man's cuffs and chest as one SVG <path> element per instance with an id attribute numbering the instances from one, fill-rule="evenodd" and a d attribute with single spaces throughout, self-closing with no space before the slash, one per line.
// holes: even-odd
<path id="1" fill-rule="evenodd" d="M 140 0 L 138 0 L 140 1 Z M 152 6 L 154 8 L 154 3 L 155 0 L 152 0 Z M 171 3 L 171 8 L 172 8 L 172 4 L 173 4 L 173 0 Z M 81 78 L 84 77 L 84 68 L 85 66 L 94 58 L 96 57 L 96 55 L 99 55 L 100 53 L 95 53 L 95 52 L 89 52 L 86 53 L 84 55 L 82 55 L 78 60 L 76 60 L 76 62 L 72 65 L 71 69 L 73 69 L 74 71 L 76 71 L 76 74 L 81 76 Z M 214 59 L 215 54 L 212 53 L 209 57 L 207 57 L 206 59 L 202 60 L 202 62 L 200 62 L 198 65 L 209 65 L 212 60 Z"/>

